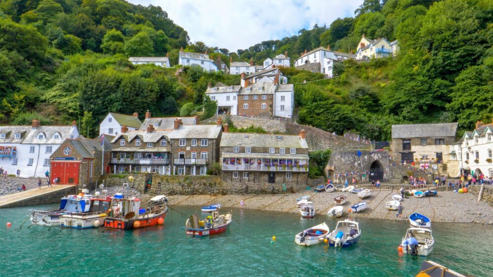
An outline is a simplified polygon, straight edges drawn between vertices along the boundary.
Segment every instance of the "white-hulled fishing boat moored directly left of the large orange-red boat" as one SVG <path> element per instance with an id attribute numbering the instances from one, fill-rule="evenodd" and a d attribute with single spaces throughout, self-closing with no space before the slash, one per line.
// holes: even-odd
<path id="1" fill-rule="evenodd" d="M 106 211 L 109 209 L 111 198 L 94 198 L 88 212 L 67 213 L 60 216 L 60 226 L 67 228 L 86 229 L 99 227 L 105 223 Z"/>

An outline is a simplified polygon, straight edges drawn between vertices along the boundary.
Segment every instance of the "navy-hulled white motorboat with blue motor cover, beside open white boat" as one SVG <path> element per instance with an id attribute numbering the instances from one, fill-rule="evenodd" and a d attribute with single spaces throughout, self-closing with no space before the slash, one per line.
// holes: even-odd
<path id="1" fill-rule="evenodd" d="M 338 221 L 336 228 L 326 238 L 330 246 L 348 247 L 357 243 L 360 236 L 359 223 L 346 219 Z"/>

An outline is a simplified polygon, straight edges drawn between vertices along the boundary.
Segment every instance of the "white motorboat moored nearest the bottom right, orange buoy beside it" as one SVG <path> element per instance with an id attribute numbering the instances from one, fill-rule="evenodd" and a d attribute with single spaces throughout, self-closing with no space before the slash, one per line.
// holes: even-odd
<path id="1" fill-rule="evenodd" d="M 431 235 L 431 230 L 425 228 L 407 229 L 401 243 L 403 253 L 414 256 L 428 256 L 433 252 L 434 245 L 435 240 Z"/>

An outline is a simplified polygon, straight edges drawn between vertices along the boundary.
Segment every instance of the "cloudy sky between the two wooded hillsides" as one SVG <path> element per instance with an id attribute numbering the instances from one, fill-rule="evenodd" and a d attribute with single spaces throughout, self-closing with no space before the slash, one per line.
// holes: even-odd
<path id="1" fill-rule="evenodd" d="M 190 40 L 233 52 L 353 16 L 362 0 L 130 0 L 161 6 Z"/>

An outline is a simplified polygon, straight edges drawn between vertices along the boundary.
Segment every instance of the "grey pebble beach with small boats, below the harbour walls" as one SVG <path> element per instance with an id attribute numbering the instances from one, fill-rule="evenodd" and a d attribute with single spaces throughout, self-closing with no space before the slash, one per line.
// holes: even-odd
<path id="1" fill-rule="evenodd" d="M 356 217 L 397 220 L 396 211 L 389 211 L 385 207 L 391 196 L 397 194 L 396 189 L 374 189 L 370 197 L 363 201 L 368 208 L 357 214 Z M 204 206 L 221 203 L 226 208 L 239 208 L 240 201 L 244 200 L 244 209 L 255 209 L 281 213 L 299 213 L 296 208 L 296 198 L 309 194 L 317 209 L 316 217 L 326 216 L 327 211 L 336 206 L 334 197 L 345 195 L 348 201 L 343 217 L 348 216 L 348 209 L 355 203 L 361 202 L 357 194 L 349 192 L 299 192 L 286 194 L 245 194 L 245 195 L 172 195 L 169 196 L 169 205 L 174 206 Z M 409 197 L 402 201 L 403 219 L 412 214 L 420 213 L 430 217 L 434 222 L 455 223 L 483 223 L 493 224 L 493 207 L 485 202 L 477 202 L 476 196 L 471 193 L 458 194 L 453 191 L 439 191 L 435 197 Z"/>

